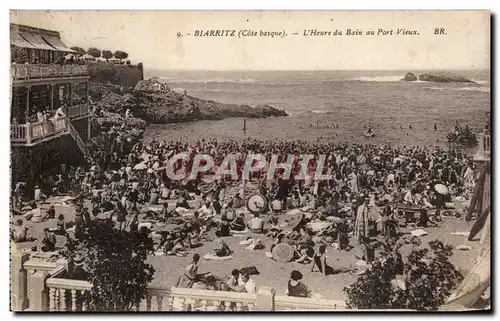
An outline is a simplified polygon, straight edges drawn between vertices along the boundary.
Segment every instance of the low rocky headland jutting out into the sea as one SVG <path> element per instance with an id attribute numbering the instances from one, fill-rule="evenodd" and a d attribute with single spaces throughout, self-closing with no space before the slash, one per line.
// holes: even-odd
<path id="1" fill-rule="evenodd" d="M 147 123 L 168 124 L 196 120 L 220 120 L 228 117 L 265 118 L 287 116 L 284 110 L 269 105 L 222 104 L 212 100 L 192 97 L 185 93 L 170 91 L 168 86 L 154 90 L 157 82 L 148 80 L 135 89 L 120 92 L 120 88 L 109 85 L 93 85 L 90 96 L 98 109 L 124 115 L 129 109 L 134 117 Z M 138 90 L 139 89 L 139 90 Z"/>

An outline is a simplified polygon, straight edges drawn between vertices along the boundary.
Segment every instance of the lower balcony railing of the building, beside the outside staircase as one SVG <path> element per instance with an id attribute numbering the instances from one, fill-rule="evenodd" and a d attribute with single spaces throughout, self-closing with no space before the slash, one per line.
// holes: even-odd
<path id="1" fill-rule="evenodd" d="M 46 122 L 10 125 L 10 141 L 33 144 L 42 139 L 68 132 L 67 121 L 67 117 L 60 117 Z"/>

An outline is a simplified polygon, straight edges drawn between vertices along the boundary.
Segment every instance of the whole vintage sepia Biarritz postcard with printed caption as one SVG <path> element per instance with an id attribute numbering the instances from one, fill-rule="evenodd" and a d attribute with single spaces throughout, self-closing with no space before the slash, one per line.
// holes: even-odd
<path id="1" fill-rule="evenodd" d="M 490 310 L 489 11 L 11 11 L 12 311 Z"/>

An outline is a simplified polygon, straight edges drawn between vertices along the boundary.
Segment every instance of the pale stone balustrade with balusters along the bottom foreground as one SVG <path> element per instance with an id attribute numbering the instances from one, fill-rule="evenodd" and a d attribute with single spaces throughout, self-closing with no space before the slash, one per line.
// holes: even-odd
<path id="1" fill-rule="evenodd" d="M 92 284 L 65 278 L 67 262 L 31 259 L 29 252 L 11 251 L 11 304 L 13 311 L 87 311 L 86 293 Z M 341 300 L 277 295 L 270 287 L 257 293 L 148 287 L 136 311 L 342 311 Z"/>

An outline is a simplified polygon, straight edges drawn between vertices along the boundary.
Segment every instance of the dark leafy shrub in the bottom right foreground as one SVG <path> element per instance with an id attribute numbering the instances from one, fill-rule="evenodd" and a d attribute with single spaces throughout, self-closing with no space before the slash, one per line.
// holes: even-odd
<path id="1" fill-rule="evenodd" d="M 414 246 L 420 240 L 411 241 Z M 429 242 L 429 249 L 413 248 L 404 264 L 404 286 L 395 286 L 395 252 L 377 260 L 356 282 L 346 287 L 347 306 L 358 309 L 437 310 L 446 302 L 462 275 L 449 261 L 452 246 Z"/>

